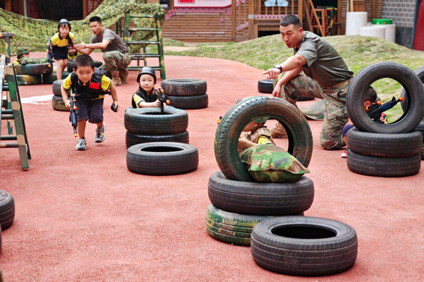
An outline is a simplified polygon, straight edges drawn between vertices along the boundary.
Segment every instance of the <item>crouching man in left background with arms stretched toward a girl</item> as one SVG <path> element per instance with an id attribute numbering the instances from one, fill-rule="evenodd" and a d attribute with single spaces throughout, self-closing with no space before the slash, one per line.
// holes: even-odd
<path id="1" fill-rule="evenodd" d="M 125 69 L 131 61 L 128 54 L 128 47 L 124 41 L 108 28 L 103 28 L 101 18 L 93 16 L 90 18 L 90 28 L 94 33 L 89 44 L 75 44 L 75 49 L 81 54 L 91 54 L 93 49 L 101 49 L 103 52 L 103 60 L 105 64 L 100 66 L 101 69 L 106 69 L 106 74 L 110 73 L 115 86 L 120 86 L 128 81 L 128 70 Z"/>

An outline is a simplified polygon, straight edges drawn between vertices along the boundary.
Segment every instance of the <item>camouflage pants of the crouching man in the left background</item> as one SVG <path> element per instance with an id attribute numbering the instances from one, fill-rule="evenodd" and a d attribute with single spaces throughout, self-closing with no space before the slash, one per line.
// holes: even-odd
<path id="1" fill-rule="evenodd" d="M 115 81 L 121 81 L 122 78 L 122 82 L 125 83 L 128 75 L 128 70 L 125 68 L 131 62 L 130 54 L 123 54 L 119 51 L 104 52 L 103 60 L 105 64 L 100 68 L 105 69 L 107 75 L 110 73 L 111 78 Z"/>

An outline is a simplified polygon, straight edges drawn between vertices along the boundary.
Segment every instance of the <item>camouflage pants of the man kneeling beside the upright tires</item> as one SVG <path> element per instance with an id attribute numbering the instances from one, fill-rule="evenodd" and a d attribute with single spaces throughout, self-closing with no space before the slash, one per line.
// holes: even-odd
<path id="1" fill-rule="evenodd" d="M 304 74 L 299 74 L 282 86 L 282 98 L 296 105 L 299 96 L 314 97 L 324 100 L 323 127 L 319 142 L 325 150 L 334 150 L 345 146 L 342 131 L 348 123 L 348 110 L 346 109 L 347 86 L 333 89 L 323 89 L 314 79 Z"/>

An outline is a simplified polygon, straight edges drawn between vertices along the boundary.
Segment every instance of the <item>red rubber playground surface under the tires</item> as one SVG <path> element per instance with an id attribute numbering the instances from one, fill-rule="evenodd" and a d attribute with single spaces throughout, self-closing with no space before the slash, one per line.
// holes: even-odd
<path id="1" fill-rule="evenodd" d="M 101 53 L 93 58 L 102 60 Z M 103 143 L 94 143 L 95 125 L 87 125 L 87 151 L 74 150 L 69 114 L 52 109 L 52 85 L 19 87 L 32 159 L 23 171 L 16 148 L 0 149 L 0 189 L 16 203 L 15 221 L 2 234 L 6 282 L 424 281 L 424 168 L 400 178 L 350 172 L 342 151 L 319 146 L 321 121 L 309 121 L 314 153 L 308 177 L 315 198 L 305 216 L 335 219 L 356 230 L 353 268 L 325 277 L 275 274 L 253 262 L 249 247 L 210 237 L 207 183 L 219 170 L 215 120 L 237 100 L 261 95 L 257 84 L 264 77 L 259 69 L 222 59 L 166 57 L 165 63 L 167 78 L 207 81 L 209 107 L 187 110 L 190 144 L 200 161 L 185 175 L 127 170 L 124 110 L 137 90 L 138 71 L 130 71 L 130 82 L 118 87 L 118 113 L 105 98 Z M 38 97 L 45 95 L 44 101 Z M 1 128 L 5 134 L 5 122 Z"/>

